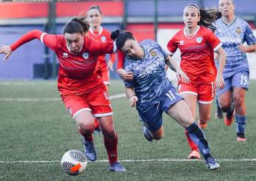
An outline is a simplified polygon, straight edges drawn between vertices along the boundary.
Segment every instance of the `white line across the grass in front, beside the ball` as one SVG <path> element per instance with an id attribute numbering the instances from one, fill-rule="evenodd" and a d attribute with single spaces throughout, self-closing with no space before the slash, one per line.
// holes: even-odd
<path id="1" fill-rule="evenodd" d="M 152 159 L 152 160 L 119 160 L 122 162 L 204 162 L 204 160 L 188 160 L 188 159 Z M 253 159 L 219 159 L 220 162 L 255 162 Z M 0 161 L 0 163 L 60 163 L 61 160 L 17 160 L 17 161 Z M 98 163 L 108 163 L 109 160 L 97 160 Z"/>

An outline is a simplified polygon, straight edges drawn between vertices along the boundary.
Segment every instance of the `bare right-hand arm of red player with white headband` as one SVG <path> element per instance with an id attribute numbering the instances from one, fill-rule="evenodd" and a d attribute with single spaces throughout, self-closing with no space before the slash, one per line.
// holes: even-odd
<path id="1" fill-rule="evenodd" d="M 216 77 L 216 83 L 217 83 L 217 87 L 218 89 L 223 89 L 225 86 L 225 82 L 223 79 L 223 69 L 225 67 L 226 64 L 226 53 L 223 49 L 223 47 L 220 47 L 219 49 L 217 49 L 215 51 L 219 56 L 218 61 L 219 61 L 219 66 L 218 66 L 218 74 Z"/>

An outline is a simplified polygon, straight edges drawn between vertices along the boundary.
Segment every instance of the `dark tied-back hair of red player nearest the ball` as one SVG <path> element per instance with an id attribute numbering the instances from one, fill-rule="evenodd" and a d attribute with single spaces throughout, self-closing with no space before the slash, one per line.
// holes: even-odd
<path id="1" fill-rule="evenodd" d="M 87 16 L 78 16 L 65 24 L 63 34 L 65 33 L 87 33 L 90 28 L 90 22 L 87 21 Z"/>

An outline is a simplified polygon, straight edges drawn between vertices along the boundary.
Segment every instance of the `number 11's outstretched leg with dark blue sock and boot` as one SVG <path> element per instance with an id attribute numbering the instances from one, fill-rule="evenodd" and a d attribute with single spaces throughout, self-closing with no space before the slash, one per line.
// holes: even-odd
<path id="1" fill-rule="evenodd" d="M 186 114 L 184 114 L 184 112 L 186 112 Z M 203 130 L 195 123 L 195 120 L 193 120 L 192 113 L 186 103 L 183 100 L 178 101 L 178 103 L 175 103 L 169 108 L 167 113 L 189 132 L 192 141 L 196 143 L 203 158 L 206 160 L 207 167 L 211 170 L 219 168 L 220 165 L 210 153 Z"/>

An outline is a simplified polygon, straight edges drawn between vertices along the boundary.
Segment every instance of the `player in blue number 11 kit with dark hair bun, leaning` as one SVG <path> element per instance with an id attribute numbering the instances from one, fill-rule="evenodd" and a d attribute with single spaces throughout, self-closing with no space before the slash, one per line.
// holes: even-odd
<path id="1" fill-rule="evenodd" d="M 141 117 L 146 140 L 160 140 L 164 136 L 162 114 L 166 112 L 189 132 L 203 154 L 207 167 L 219 168 L 220 165 L 210 154 L 202 129 L 166 78 L 165 64 L 168 64 L 177 72 L 178 80 L 189 83 L 189 78 L 178 64 L 155 41 L 144 40 L 138 44 L 132 33 L 120 33 L 119 30 L 113 32 L 111 37 L 116 39 L 118 49 L 126 55 L 124 69 L 133 72 L 133 80 L 124 81 L 124 84 L 130 106 L 136 106 Z"/>

